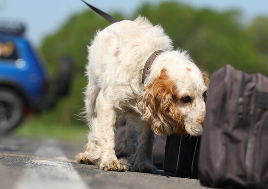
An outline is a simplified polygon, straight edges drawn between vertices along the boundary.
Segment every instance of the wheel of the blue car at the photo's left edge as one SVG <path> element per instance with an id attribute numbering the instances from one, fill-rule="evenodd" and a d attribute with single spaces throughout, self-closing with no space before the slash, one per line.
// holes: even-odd
<path id="1" fill-rule="evenodd" d="M 22 98 L 8 88 L 0 88 L 0 135 L 15 129 L 24 117 Z"/>

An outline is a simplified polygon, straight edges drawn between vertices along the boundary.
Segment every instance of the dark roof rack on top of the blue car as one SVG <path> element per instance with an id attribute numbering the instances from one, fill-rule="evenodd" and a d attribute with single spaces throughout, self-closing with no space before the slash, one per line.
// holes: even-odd
<path id="1" fill-rule="evenodd" d="M 26 27 L 21 22 L 0 20 L 0 33 L 24 35 Z"/>

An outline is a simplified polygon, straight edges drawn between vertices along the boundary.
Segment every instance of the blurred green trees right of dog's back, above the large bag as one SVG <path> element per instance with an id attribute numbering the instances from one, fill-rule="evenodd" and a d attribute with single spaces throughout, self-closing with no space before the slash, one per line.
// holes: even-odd
<path id="1" fill-rule="evenodd" d="M 262 33 L 259 37 L 256 31 L 249 35 L 248 29 L 243 28 L 240 13 L 236 10 L 218 13 L 164 2 L 156 6 L 145 4 L 138 12 L 154 24 L 160 23 L 174 46 L 188 50 L 195 63 L 210 73 L 231 64 L 249 73 L 268 74 L 267 58 L 256 48 L 261 46 L 263 52 L 268 52 L 268 42 L 263 41 L 264 38 L 268 40 L 268 19 L 260 21 L 259 25 L 266 23 L 266 27 L 260 28 L 265 31 L 257 29 Z M 256 29 L 255 26 L 253 28 Z"/>

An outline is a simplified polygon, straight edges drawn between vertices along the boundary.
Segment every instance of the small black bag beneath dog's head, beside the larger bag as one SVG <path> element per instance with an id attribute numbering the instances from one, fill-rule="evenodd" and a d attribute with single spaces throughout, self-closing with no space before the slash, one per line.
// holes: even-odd
<path id="1" fill-rule="evenodd" d="M 197 179 L 199 144 L 200 137 L 168 136 L 164 171 L 172 176 Z"/>

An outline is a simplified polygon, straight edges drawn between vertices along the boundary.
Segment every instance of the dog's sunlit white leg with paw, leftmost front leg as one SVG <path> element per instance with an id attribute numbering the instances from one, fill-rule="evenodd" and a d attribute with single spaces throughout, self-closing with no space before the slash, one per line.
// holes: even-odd
<path id="1" fill-rule="evenodd" d="M 106 89 L 108 90 L 108 89 Z M 96 99 L 96 117 L 88 135 L 88 159 L 101 170 L 124 171 L 126 167 L 115 156 L 115 107 L 101 90 Z"/>

